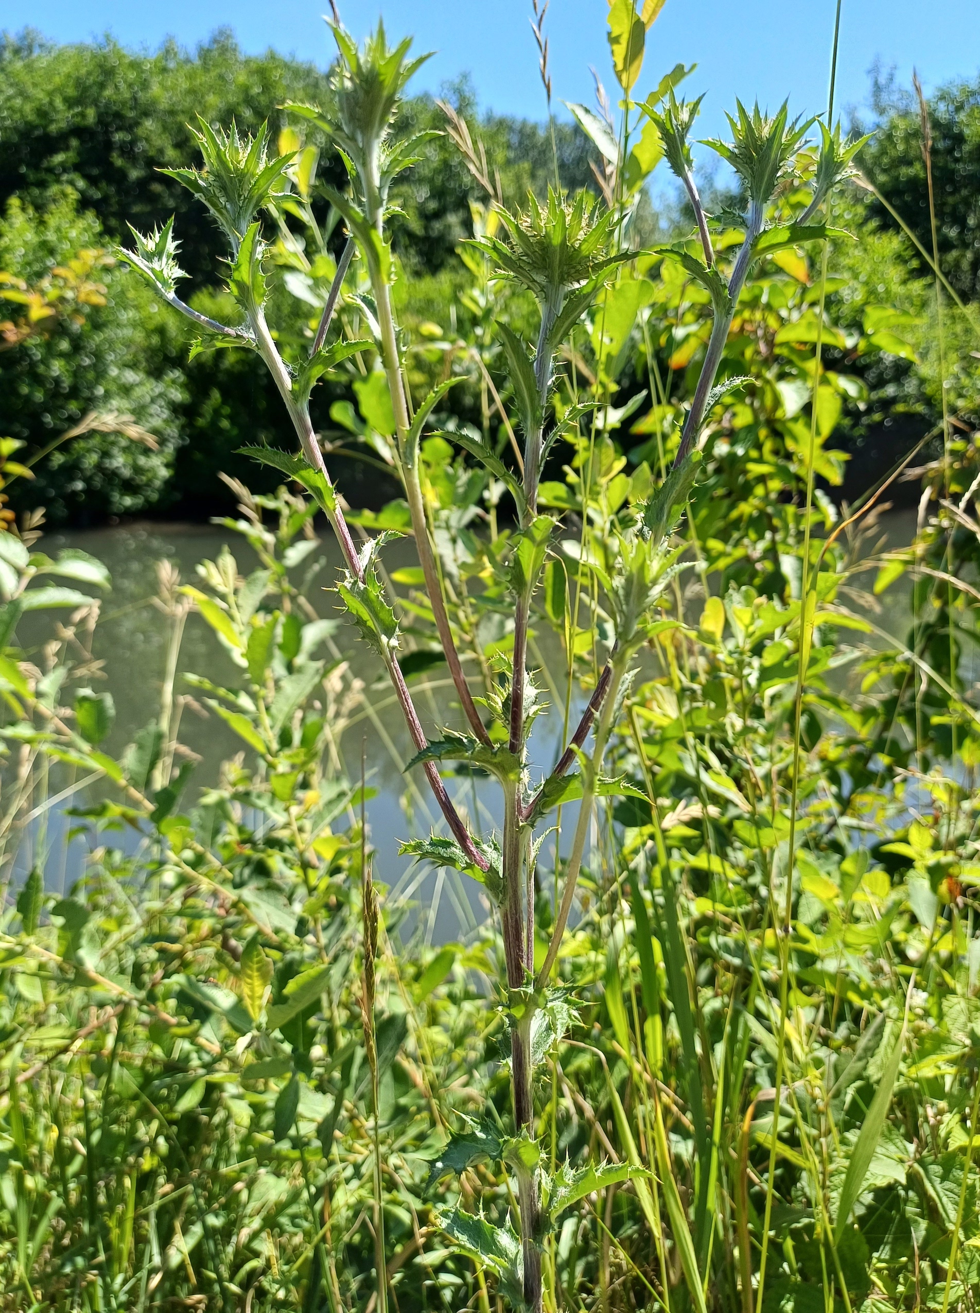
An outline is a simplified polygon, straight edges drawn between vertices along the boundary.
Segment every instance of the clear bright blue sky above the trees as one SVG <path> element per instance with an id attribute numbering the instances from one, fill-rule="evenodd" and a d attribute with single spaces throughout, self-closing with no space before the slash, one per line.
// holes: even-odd
<path id="1" fill-rule="evenodd" d="M 193 46 L 230 26 L 248 51 L 268 46 L 317 63 L 330 56 L 321 13 L 326 0 L 4 0 L 8 32 L 32 26 L 55 41 L 112 33 L 127 46 L 155 47 L 167 37 Z M 416 50 L 437 54 L 416 89 L 469 72 L 481 105 L 544 117 L 537 53 L 528 25 L 531 0 L 340 0 L 345 25 L 364 35 L 382 14 L 391 35 L 414 34 Z M 552 0 L 546 18 L 554 97 L 591 101 L 590 66 L 611 88 L 604 37 L 607 0 Z M 834 0 L 667 0 L 648 37 L 637 91 L 678 60 L 698 63 L 688 95 L 707 92 L 703 131 L 723 129 L 736 96 L 796 112 L 826 104 Z M 979 0 L 843 0 L 838 104 L 867 105 L 870 70 L 895 67 L 908 84 L 913 64 L 930 89 L 980 71 Z"/>

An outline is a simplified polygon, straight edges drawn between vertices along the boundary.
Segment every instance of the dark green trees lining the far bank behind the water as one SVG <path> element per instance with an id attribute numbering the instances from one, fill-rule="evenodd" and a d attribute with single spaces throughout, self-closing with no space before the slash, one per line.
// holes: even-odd
<path id="1" fill-rule="evenodd" d="M 79 251 L 125 240 L 126 219 L 152 228 L 176 214 L 181 265 L 190 274 L 194 303 L 208 309 L 217 294 L 208 286 L 214 226 L 160 169 L 192 156 L 188 123 L 198 113 L 210 122 L 234 117 L 246 131 L 264 119 L 277 129 L 280 105 L 315 104 L 324 88 L 326 74 L 314 64 L 275 53 L 243 55 L 230 33 L 218 33 L 193 54 L 173 43 L 146 54 L 112 41 L 55 46 L 33 34 L 7 37 L 0 46 L 0 272 L 34 288 Z M 465 80 L 449 96 L 474 122 Z M 958 293 L 973 301 L 980 295 L 980 79 L 942 89 L 930 109 L 939 251 Z M 875 114 L 878 130 L 862 167 L 931 249 L 918 109 L 906 93 L 883 84 Z M 414 134 L 443 123 L 431 97 L 407 102 L 403 130 Z M 556 123 L 554 146 L 546 126 L 499 116 L 485 116 L 479 134 L 507 202 L 519 202 L 529 188 L 541 193 L 556 165 L 568 188 L 594 184 L 599 155 L 577 125 Z M 343 185 L 328 155 L 323 176 Z M 472 234 L 476 198 L 476 184 L 447 137 L 432 138 L 424 159 L 399 184 L 403 214 L 393 226 L 394 248 L 416 280 L 416 305 L 418 278 L 426 278 L 422 299 L 431 310 L 431 330 L 451 332 L 455 326 L 466 281 L 455 252 Z M 837 256 L 837 319 L 846 326 L 850 315 L 859 330 L 868 302 L 901 305 L 910 318 L 927 315 L 929 270 L 899 235 L 888 209 L 867 193 L 855 193 L 847 204 L 847 226 L 860 240 Z M 686 227 L 683 210 L 659 219 L 649 202 L 646 210 L 641 231 L 650 238 L 658 223 Z M 239 446 L 289 445 L 271 383 L 238 353 L 204 355 L 184 368 L 189 339 L 180 324 L 160 314 L 121 268 L 106 265 L 100 277 L 104 305 L 54 316 L 45 331 L 0 353 L 0 435 L 38 450 L 89 410 L 112 408 L 152 432 L 158 450 L 120 433 L 87 435 L 49 457 L 33 483 L 12 488 L 13 506 L 45 504 L 55 523 L 138 512 L 213 513 L 215 503 L 229 498 L 218 473 L 244 471 L 235 454 Z M 296 309 L 302 312 L 301 303 Z M 917 364 L 888 353 L 855 364 L 868 394 L 841 418 L 838 441 L 845 448 L 858 454 L 864 449 L 876 461 L 883 446 L 933 427 L 938 365 L 930 369 L 926 339 Z M 969 360 L 968 353 L 963 358 Z M 624 370 L 620 399 L 644 386 L 645 377 L 645 361 L 637 358 Z M 972 387 L 969 381 L 964 386 Z M 323 393 L 315 420 L 330 437 L 336 435 L 330 411 L 343 394 L 328 387 Z M 465 418 L 466 399 L 458 404 Z M 384 500 L 368 486 L 365 466 L 343 460 L 336 465 L 351 500 Z M 254 469 L 248 477 L 255 482 Z"/>

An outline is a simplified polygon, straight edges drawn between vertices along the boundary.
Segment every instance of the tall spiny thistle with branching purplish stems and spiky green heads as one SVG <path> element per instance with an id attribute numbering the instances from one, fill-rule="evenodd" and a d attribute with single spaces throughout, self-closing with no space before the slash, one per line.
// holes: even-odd
<path id="1" fill-rule="evenodd" d="M 615 8 L 619 12 L 623 7 Z M 632 12 L 632 7 L 627 8 Z M 202 122 L 197 139 L 204 167 L 173 171 L 173 176 L 208 206 L 225 234 L 230 268 L 227 288 L 240 310 L 239 323 L 223 324 L 209 319 L 177 297 L 176 286 L 183 274 L 176 263 L 177 242 L 172 225 L 148 236 L 135 234 L 135 249 L 123 255 L 150 278 L 163 299 L 194 322 L 201 332 L 197 349 L 250 349 L 272 373 L 294 425 L 300 454 L 268 449 L 255 449 L 254 454 L 301 483 L 327 516 L 344 561 L 344 572 L 336 583 L 338 595 L 364 641 L 384 663 L 395 689 L 416 748 L 406 769 L 422 767 L 449 830 L 449 836 L 434 834 L 412 839 L 402 846 L 402 852 L 436 865 L 453 867 L 479 880 L 499 915 L 504 964 L 497 1002 L 506 1016 L 510 1036 L 514 1125 L 506 1136 L 490 1124 L 482 1125 L 476 1134 L 470 1128 L 469 1133 L 445 1146 L 434 1174 L 437 1178 L 451 1170 L 464 1170 L 481 1154 L 489 1154 L 512 1170 L 518 1187 L 516 1229 L 493 1228 L 482 1217 L 460 1209 L 443 1215 L 441 1224 L 460 1249 L 472 1253 L 483 1268 L 497 1274 L 501 1289 L 515 1305 L 537 1313 L 543 1308 L 543 1246 L 560 1213 L 599 1186 L 636 1179 L 637 1188 L 645 1188 L 641 1180 L 644 1173 L 635 1162 L 587 1167 L 579 1174 L 566 1169 L 549 1173 L 536 1133 L 536 1071 L 571 1019 L 568 991 L 553 983 L 553 970 L 562 955 L 586 857 L 594 802 L 604 794 L 631 792 L 624 781 L 603 775 L 607 747 L 620 726 L 623 699 L 638 655 L 654 634 L 679 624 L 678 617 L 671 614 L 671 584 L 683 567 L 684 545 L 673 541 L 673 530 L 698 478 L 698 444 L 705 420 L 736 382 L 725 379 L 716 386 L 716 374 L 749 269 L 753 261 L 775 251 L 828 235 L 822 225 L 811 219 L 829 190 L 847 173 L 857 146 L 845 146 L 839 131 L 824 129 L 812 200 L 797 222 L 767 227 L 770 202 L 793 173 L 812 122 L 790 122 L 786 106 L 770 118 L 758 108 L 750 113 L 740 105 L 737 117 L 729 119 L 732 142 L 709 143 L 738 173 L 747 201 L 745 214 L 734 217 L 744 230 L 744 242 L 732 268 L 725 272 L 712 247 L 712 219 L 704 213 L 692 180 L 688 135 L 698 105 L 678 102 L 674 81 L 666 79 L 658 98 L 640 106 L 688 192 L 698 226 L 694 249 L 691 243 L 683 242 L 646 252 L 645 257 L 653 255 L 679 261 L 687 274 L 707 289 L 713 326 L 694 399 L 677 436 L 673 467 L 661 486 L 633 504 L 624 503 L 621 498 L 612 504 L 595 495 L 589 478 L 582 481 L 582 513 L 590 532 L 581 569 L 596 604 L 600 600 L 608 616 L 608 625 L 594 635 L 595 650 L 606 655 L 565 750 L 544 779 L 532 784 L 529 731 L 544 708 L 528 666 L 528 638 L 545 569 L 556 559 L 560 528 L 557 519 L 540 511 L 541 473 L 558 440 L 595 445 L 596 411 L 604 404 L 604 399 L 596 395 L 585 404 L 556 406 L 560 361 L 575 327 L 583 316 L 602 314 L 607 285 L 638 255 L 621 248 L 624 213 L 636 196 L 636 176 L 631 175 L 623 185 L 615 177 L 610 184 L 607 176 L 606 193 L 611 205 L 587 193 L 569 198 L 557 189 L 549 189 L 543 200 L 529 197 L 519 213 L 498 206 L 498 231 L 502 235 L 485 235 L 470 246 L 486 257 L 491 280 L 515 284 L 529 293 L 537 306 L 537 330 L 531 340 L 524 340 L 507 324 L 495 326 L 523 437 L 519 470 L 504 465 L 498 452 L 472 435 L 461 431 L 441 435 L 474 457 L 477 470 L 487 479 L 502 483 L 514 503 L 515 524 L 498 538 L 498 550 L 490 558 L 487 584 L 495 597 L 506 599 L 510 608 L 512 649 L 495 666 L 479 666 L 481 674 L 474 676 L 479 679 L 479 687 L 474 693 L 464 658 L 479 654 L 464 649 L 464 642 L 469 645 L 470 639 L 458 622 L 461 601 L 458 592 L 453 591 L 458 580 L 453 588 L 449 587 L 448 570 L 444 569 L 447 562 L 440 561 L 436 548 L 434 504 L 427 499 L 423 460 L 424 436 L 431 431 L 434 415 L 447 391 L 462 376 L 448 377 L 412 407 L 406 385 L 405 337 L 395 322 L 391 297 L 397 263 L 388 235 L 389 194 L 394 179 L 414 163 L 420 146 L 418 138 L 399 139 L 393 126 L 399 96 L 420 60 L 409 59 L 407 41 L 389 49 L 381 26 L 364 49 L 357 49 L 339 24 L 330 26 L 338 45 L 338 62 L 328 102 L 317 108 L 288 106 L 296 119 L 313 125 L 334 144 L 351 184 L 349 190 L 343 193 L 322 186 L 345 223 L 348 238 L 336 261 L 334 284 L 307 357 L 289 364 L 267 322 L 269 288 L 264 225 L 281 218 L 293 156 L 286 152 L 271 158 L 265 130 L 252 139 L 240 137 L 234 125 L 230 131 L 222 133 Z M 642 37 L 641 24 L 638 30 Z M 623 56 L 632 80 L 623 83 L 624 89 L 632 87 L 638 72 L 636 51 L 631 46 L 632 33 L 631 28 Z M 656 158 L 656 152 L 649 158 Z M 633 167 L 633 159 L 632 154 L 628 155 L 621 167 Z M 732 215 L 726 215 L 725 222 L 730 226 Z M 360 256 L 370 284 L 370 297 L 359 301 L 361 320 L 370 331 L 370 336 L 364 339 L 332 334 L 334 314 L 342 302 L 344 278 L 355 253 Z M 361 549 L 355 546 L 310 419 L 310 395 L 317 382 L 353 355 L 376 357 L 388 383 L 395 427 L 395 473 L 405 488 L 427 604 L 465 726 L 462 730 L 443 726 L 432 738 L 423 729 L 399 666 L 402 635 L 395 599 L 386 593 L 378 571 L 378 557 L 388 536 L 382 533 L 368 540 Z M 583 424 L 591 427 L 587 435 L 582 432 Z M 448 706 L 444 716 L 451 720 Z M 502 794 L 503 826 L 499 834 L 481 838 L 457 809 L 440 775 L 440 764 L 451 762 L 465 763 L 468 768 L 487 772 L 495 779 Z M 579 804 L 574 838 L 565 859 L 558 856 L 556 843 L 560 898 L 540 964 L 536 964 L 540 927 L 536 924 L 535 889 L 541 829 L 556 807 L 571 801 Z M 373 893 L 370 897 L 373 899 Z M 368 905 L 374 906 L 373 901 L 365 903 L 365 909 Z M 377 926 L 372 934 L 377 935 Z M 365 999 L 368 995 L 365 977 Z M 367 1022 L 365 1012 L 365 1033 L 369 1031 Z M 659 1134 L 663 1138 L 662 1125 Z M 666 1148 L 663 1153 L 666 1155 Z M 705 1166 L 696 1207 L 702 1229 L 707 1191 Z M 677 1200 L 669 1196 L 669 1205 L 671 1226 L 679 1237 L 682 1225 L 687 1225 L 679 1196 Z M 683 1249 L 683 1253 L 687 1255 L 688 1250 Z M 382 1285 L 384 1254 L 378 1254 L 377 1266 L 377 1279 Z M 703 1306 L 696 1267 L 687 1260 L 684 1278 L 695 1304 Z M 384 1308 L 382 1297 L 380 1306 Z"/>

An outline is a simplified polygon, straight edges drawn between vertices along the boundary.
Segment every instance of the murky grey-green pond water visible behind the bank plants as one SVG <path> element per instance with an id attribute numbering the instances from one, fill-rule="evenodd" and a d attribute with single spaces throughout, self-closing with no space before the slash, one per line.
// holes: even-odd
<path id="1" fill-rule="evenodd" d="M 885 545 L 895 548 L 908 544 L 914 534 L 914 512 L 896 511 L 883 516 L 879 530 L 868 540 L 868 548 Z M 45 550 L 54 555 L 62 548 L 80 548 L 104 561 L 112 574 L 112 592 L 104 600 L 101 618 L 96 629 L 95 656 L 102 663 L 101 676 L 93 681 L 96 687 L 109 688 L 116 702 L 116 723 L 104 744 L 114 755 L 120 754 L 137 730 L 159 714 L 160 693 L 167 663 L 167 643 L 169 621 L 155 604 L 159 584 L 158 562 L 168 561 L 179 570 L 183 583 L 198 583 L 196 566 L 204 559 L 214 561 L 227 545 L 242 574 L 257 565 L 248 544 L 225 528 L 193 524 L 129 524 L 114 528 L 50 533 L 43 540 Z M 399 559 L 403 555 L 405 559 Z M 339 554 L 332 541 L 321 542 L 319 569 L 306 590 L 314 608 L 322 616 L 334 613 L 328 587 L 339 565 Z M 310 558 L 310 559 L 317 559 Z M 389 549 L 386 565 L 389 570 L 414 562 L 411 544 L 395 544 Z M 874 575 L 864 575 L 863 587 L 871 587 Z M 905 580 L 889 590 L 887 605 L 875 605 L 867 599 L 845 599 L 854 608 L 867 609 L 868 618 L 897 641 L 904 641 L 908 632 L 910 588 Z M 870 609 L 868 609 L 870 608 Z M 51 613 L 38 613 L 26 617 L 30 628 L 24 633 L 28 642 L 43 641 L 53 626 Z M 402 767 L 412 756 L 412 746 L 402 720 L 401 710 L 390 692 L 380 662 L 365 651 L 352 626 L 342 622 L 334 634 L 338 655 L 351 660 L 353 674 L 367 685 L 363 705 L 355 712 L 339 742 L 343 769 L 348 779 L 357 780 L 361 772 L 361 754 L 368 762 L 368 784 L 377 792 L 368 802 L 368 821 L 372 842 L 376 848 L 376 877 L 405 895 L 412 895 L 419 906 L 427 909 L 424 916 L 426 937 L 440 941 L 473 930 L 485 916 L 485 906 L 479 888 L 473 881 L 455 872 L 422 872 L 412 869 L 407 859 L 398 856 L 398 840 L 411 834 L 428 832 L 437 819 L 435 807 L 427 794 L 424 779 L 414 772 L 415 779 L 406 777 Z M 544 637 L 543 637 L 544 645 Z M 872 643 L 884 642 L 880 637 L 868 639 Z M 545 646 L 544 664 L 556 666 L 556 653 Z M 532 662 L 537 663 L 541 654 Z M 185 681 L 184 674 L 206 674 L 215 684 L 236 687 L 240 672 L 218 643 L 213 632 L 192 614 L 183 634 L 177 662 L 176 691 L 196 693 Z M 843 676 L 845 681 L 849 679 Z M 439 727 L 436 697 L 447 687 L 451 688 L 444 667 L 437 667 L 435 676 L 414 685 L 416 704 L 430 735 L 435 737 Z M 552 702 L 560 700 L 552 695 Z M 573 708 L 573 717 L 581 710 L 582 701 Z M 561 751 L 561 710 L 552 710 L 541 717 L 532 737 L 532 760 L 536 771 L 545 771 L 553 764 Z M 574 721 L 573 721 L 574 723 Z M 179 738 L 200 762 L 192 777 L 184 806 L 201 786 L 217 781 L 221 763 L 242 748 L 242 742 L 234 731 L 217 716 L 201 718 L 188 704 L 184 706 L 179 726 Z M 499 823 L 497 814 L 497 790 L 491 781 L 458 779 L 449 781 L 451 792 L 456 792 L 465 804 L 477 825 L 489 830 Z M 41 823 L 29 827 L 24 836 L 22 851 L 18 855 L 17 871 L 24 872 L 41 860 L 47 873 L 49 888 L 67 889 L 80 874 L 87 851 L 87 838 L 76 834 L 70 842 L 68 834 L 78 822 L 68 817 L 66 807 L 72 798 L 59 801 L 41 818 Z M 562 829 L 570 835 L 570 826 Z M 130 850 L 139 842 L 138 836 L 122 836 Z"/>

